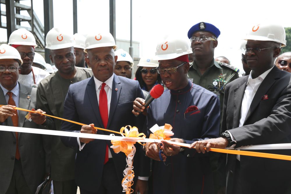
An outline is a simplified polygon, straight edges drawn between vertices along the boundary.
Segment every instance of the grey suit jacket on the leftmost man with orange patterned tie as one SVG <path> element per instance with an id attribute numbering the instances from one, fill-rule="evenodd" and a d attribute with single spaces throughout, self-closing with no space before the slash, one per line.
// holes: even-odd
<path id="1" fill-rule="evenodd" d="M 3 90 L 0 88 L 0 104 L 6 105 Z M 31 110 L 36 108 L 36 88 L 29 88 L 19 83 L 19 107 Z M 28 112 L 18 112 L 18 126 L 28 128 L 46 129 L 50 125 L 46 121 L 45 125 L 38 125 L 25 118 Z M 2 125 L 13 126 L 11 117 L 6 119 Z M 18 133 L 20 160 L 22 170 L 32 193 L 36 191 L 37 186 L 42 182 L 45 172 L 49 172 L 48 160 L 49 152 L 47 139 L 45 135 Z M 16 152 L 15 132 L 0 131 L 0 194 L 6 193 L 13 169 Z"/>

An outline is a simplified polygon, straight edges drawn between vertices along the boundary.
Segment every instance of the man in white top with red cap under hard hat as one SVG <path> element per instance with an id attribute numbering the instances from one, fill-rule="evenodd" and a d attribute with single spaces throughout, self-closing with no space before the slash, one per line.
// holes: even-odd
<path id="1" fill-rule="evenodd" d="M 18 81 L 26 86 L 37 88 L 38 83 L 49 76 L 49 73 L 32 66 L 34 48 L 37 47 L 33 34 L 23 28 L 15 30 L 9 37 L 8 45 L 16 48 L 23 60 Z"/>

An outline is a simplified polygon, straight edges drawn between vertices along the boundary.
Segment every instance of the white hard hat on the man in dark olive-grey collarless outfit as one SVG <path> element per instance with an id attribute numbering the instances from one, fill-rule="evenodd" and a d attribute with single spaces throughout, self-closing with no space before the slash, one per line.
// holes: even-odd
<path id="1" fill-rule="evenodd" d="M 65 33 L 58 28 L 52 28 L 45 38 L 45 48 L 56 50 L 74 46 L 74 38 L 71 34 Z"/>

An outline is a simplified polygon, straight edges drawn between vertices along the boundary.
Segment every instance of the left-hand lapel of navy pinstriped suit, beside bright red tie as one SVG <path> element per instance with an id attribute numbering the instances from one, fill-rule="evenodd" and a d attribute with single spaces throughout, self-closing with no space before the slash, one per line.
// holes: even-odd
<path id="1" fill-rule="evenodd" d="M 95 113 L 95 117 L 97 118 L 97 122 L 99 126 L 104 128 L 104 125 L 101 120 L 100 112 L 99 112 L 99 106 L 98 106 L 98 99 L 97 99 L 97 94 L 96 94 L 96 88 L 95 88 L 95 82 L 94 82 L 94 77 L 89 80 L 86 92 L 89 96 L 91 107 L 93 108 L 93 111 Z M 103 131 L 100 131 L 103 133 Z"/>

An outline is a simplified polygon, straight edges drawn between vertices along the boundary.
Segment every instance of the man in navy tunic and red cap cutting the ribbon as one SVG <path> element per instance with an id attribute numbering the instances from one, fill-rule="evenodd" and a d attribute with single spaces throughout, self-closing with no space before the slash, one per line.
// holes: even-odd
<path id="1" fill-rule="evenodd" d="M 145 133 L 149 134 L 155 124 L 167 123 L 173 127 L 172 141 L 191 143 L 218 136 L 219 99 L 187 78 L 191 53 L 187 40 L 168 38 L 157 45 L 157 71 L 168 90 L 150 104 Z M 134 110 L 143 112 L 145 107 L 141 104 L 144 100 L 137 98 Z M 146 155 L 153 159 L 153 193 L 214 193 L 209 156 L 180 146 L 171 150 L 170 147 L 158 143 L 145 145 Z"/>

